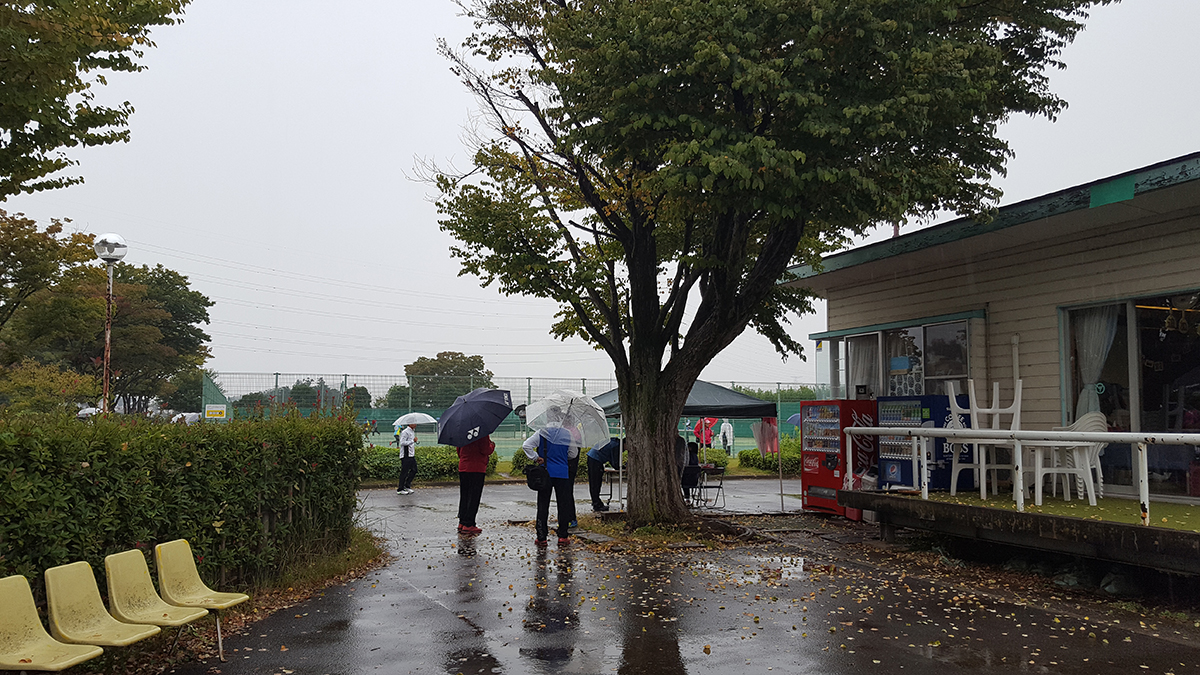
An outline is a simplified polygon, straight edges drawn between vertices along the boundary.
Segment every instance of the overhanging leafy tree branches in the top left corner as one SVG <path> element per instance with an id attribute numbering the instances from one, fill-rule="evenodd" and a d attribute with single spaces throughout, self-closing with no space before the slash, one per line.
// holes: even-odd
<path id="1" fill-rule="evenodd" d="M 188 0 L 0 2 L 0 202 L 79 183 L 50 177 L 73 163 L 64 148 L 128 141 L 133 107 L 96 102 L 106 72 L 136 72 L 150 30 Z"/>

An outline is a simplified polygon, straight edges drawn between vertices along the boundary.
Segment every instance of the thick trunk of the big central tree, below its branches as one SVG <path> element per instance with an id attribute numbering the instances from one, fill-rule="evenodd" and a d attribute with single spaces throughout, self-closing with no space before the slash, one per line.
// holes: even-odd
<path id="1" fill-rule="evenodd" d="M 618 387 L 629 443 L 628 522 L 640 526 L 690 520 L 674 447 L 691 383 L 680 387 L 658 372 L 642 377 L 626 372 L 618 374 Z"/>

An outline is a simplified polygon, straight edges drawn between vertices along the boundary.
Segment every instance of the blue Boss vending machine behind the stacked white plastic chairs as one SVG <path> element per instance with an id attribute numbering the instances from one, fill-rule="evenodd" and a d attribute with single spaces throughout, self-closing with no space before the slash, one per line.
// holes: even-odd
<path id="1" fill-rule="evenodd" d="M 946 428 L 950 419 L 950 400 L 948 396 L 880 396 L 880 426 L 924 426 L 929 429 Z M 967 398 L 959 396 L 960 407 L 967 407 Z M 959 424 L 970 428 L 967 416 L 959 416 Z M 932 462 L 929 471 L 930 490 L 950 489 L 950 444 L 946 438 L 931 438 Z M 971 461 L 973 448 L 953 446 L 954 452 L 962 453 L 959 461 Z M 924 458 L 918 458 L 923 461 Z M 919 464 L 917 471 L 920 471 Z M 974 473 L 959 472 L 959 490 L 974 490 Z M 907 436 L 880 436 L 880 488 L 919 488 L 913 479 L 912 438 Z"/>

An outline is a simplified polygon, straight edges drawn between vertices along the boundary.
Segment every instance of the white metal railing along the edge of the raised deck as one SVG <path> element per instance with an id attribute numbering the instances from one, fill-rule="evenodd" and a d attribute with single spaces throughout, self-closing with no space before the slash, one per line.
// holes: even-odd
<path id="1" fill-rule="evenodd" d="M 965 443 L 997 441 L 997 444 L 1013 447 L 1013 500 L 1016 502 L 1016 510 L 1025 510 L 1025 485 L 1024 485 L 1024 453 L 1026 444 L 1034 446 L 1078 446 L 1082 443 L 1128 443 L 1130 448 L 1138 447 L 1136 452 L 1136 482 L 1138 502 L 1141 508 L 1141 524 L 1150 525 L 1150 468 L 1147 460 L 1148 446 L 1194 446 L 1200 447 L 1200 434 L 1141 434 L 1129 431 L 1032 431 L 1032 430 L 1003 430 L 1003 429 L 929 429 L 929 428 L 902 428 L 902 426 L 847 426 L 842 430 L 846 434 L 846 461 L 847 466 L 853 466 L 853 437 L 854 436 L 905 436 L 914 441 L 913 461 L 924 465 L 922 471 L 920 496 L 929 498 L 929 471 L 932 464 L 930 453 L 930 438 L 958 440 Z M 919 444 L 919 448 L 918 448 Z M 918 456 L 919 453 L 919 456 Z M 914 472 L 916 477 L 917 473 Z M 986 477 L 982 477 L 986 479 Z M 954 478 L 952 477 L 952 480 Z M 916 480 L 916 478 L 913 478 Z M 851 489 L 852 476 L 846 474 L 845 489 Z"/>

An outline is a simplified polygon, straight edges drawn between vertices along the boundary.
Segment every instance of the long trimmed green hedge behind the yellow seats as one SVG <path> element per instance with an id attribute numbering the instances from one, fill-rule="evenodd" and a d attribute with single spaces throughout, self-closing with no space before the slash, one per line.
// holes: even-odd
<path id="1" fill-rule="evenodd" d="M 186 538 L 200 574 L 248 587 L 349 540 L 361 434 L 299 414 L 226 424 L 0 419 L 0 577 Z M 152 555 L 148 556 L 151 566 Z M 103 587 L 103 580 L 101 580 Z"/>

